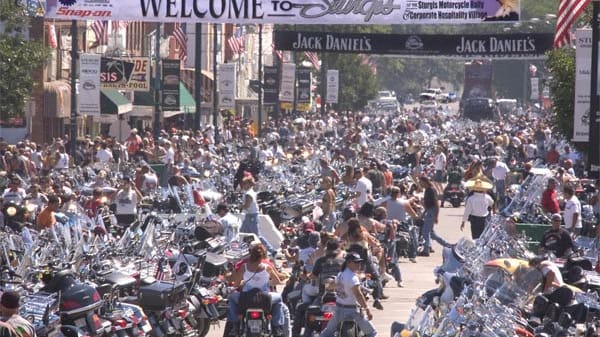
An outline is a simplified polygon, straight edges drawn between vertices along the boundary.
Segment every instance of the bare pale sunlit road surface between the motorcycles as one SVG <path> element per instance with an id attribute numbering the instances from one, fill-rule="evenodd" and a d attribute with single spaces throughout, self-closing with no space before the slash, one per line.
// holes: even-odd
<path id="1" fill-rule="evenodd" d="M 450 206 L 446 203 L 447 206 Z M 463 214 L 463 207 L 460 208 L 442 208 L 440 213 L 440 223 L 436 225 L 436 232 L 450 242 L 456 242 L 463 236 L 470 237 L 469 226 L 465 226 L 465 231 L 460 231 L 460 222 Z M 403 259 L 400 263 L 400 270 L 404 281 L 404 288 L 396 287 L 394 282 L 388 283 L 384 293 L 390 298 L 383 300 L 384 310 L 374 309 L 373 323 L 379 336 L 389 336 L 390 326 L 393 321 L 404 323 L 414 307 L 415 300 L 425 291 L 435 288 L 433 269 L 439 266 L 442 261 L 441 246 L 435 241 L 433 244 L 435 253 L 429 257 L 417 257 L 417 263 L 411 263 Z M 370 302 L 372 305 L 372 301 Z M 224 322 L 211 328 L 209 337 L 223 336 Z"/>

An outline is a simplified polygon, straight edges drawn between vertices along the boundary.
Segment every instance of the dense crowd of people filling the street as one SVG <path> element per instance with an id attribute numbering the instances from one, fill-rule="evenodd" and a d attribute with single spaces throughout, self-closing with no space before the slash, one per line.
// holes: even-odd
<path id="1" fill-rule="evenodd" d="M 262 170 L 318 156 L 322 214 L 318 219 L 300 221 L 306 239 L 302 241 L 300 235 L 296 243 L 300 248 L 298 254 L 274 247 L 260 235 L 260 208 L 254 189 L 260 169 L 243 172 L 239 179 L 243 199 L 239 205 L 213 205 L 228 233 L 232 233 L 230 227 L 234 222 L 230 218 L 231 206 L 242 210 L 245 217 L 240 231 L 259 235 L 264 245 L 264 251 L 256 248 L 246 265 L 231 277 L 242 290 L 253 287 L 268 290 L 272 284 L 269 279 L 282 283 L 285 275 L 263 262 L 267 253 L 301 261 L 308 280 L 303 297 L 308 303 L 319 291 L 319 286 L 311 280 L 318 279 L 324 269 L 328 274 L 333 273 L 331 265 L 334 265 L 333 270 L 340 274 L 336 281 L 338 310 L 331 325 L 351 318 L 367 336 L 375 336 L 369 323 L 372 314 L 359 288 L 360 271 L 365 261 L 374 257 L 377 264 L 367 268 L 369 273 L 380 275 L 373 306 L 381 310 L 380 300 L 386 298 L 381 281 L 395 279 L 397 286 L 403 286 L 400 272 L 389 275 L 386 269 L 385 242 L 393 239 L 397 226 L 409 219 L 420 224 L 423 247 L 419 251 L 416 247 L 411 249 L 412 262 L 434 252 L 432 239 L 442 246 L 452 245 L 436 233 L 435 226 L 440 222 L 443 187 L 453 171 L 461 172 L 469 191 L 461 230 L 470 222 L 473 238 L 481 235 L 486 219 L 506 205 L 508 186 L 524 181 L 537 166 L 550 167 L 554 172 L 541 200 L 552 219 L 552 228 L 542 240 L 543 249 L 563 255 L 572 248 L 570 235 L 578 234 L 582 228 L 582 206 L 572 183 L 583 178 L 583 158 L 552 131 L 543 114 L 529 111 L 519 117 L 507 115 L 495 122 L 467 125 L 460 132 L 454 129 L 458 128 L 456 118 L 441 111 L 425 114 L 416 108 L 398 116 L 331 112 L 325 117 L 269 121 L 262 127 L 261 138 L 256 138 L 249 121 L 232 119 L 218 131 L 212 126 L 201 131 L 172 128 L 162 130 L 159 138 L 153 137 L 151 129 L 132 129 L 123 141 L 102 136 L 81 139 L 65 136 L 50 144 L 36 144 L 28 139 L 10 145 L 2 141 L 0 175 L 5 184 L 2 204 L 32 206 L 24 212 L 33 215 L 24 215 L 22 219 L 31 220 L 35 216 L 34 225 L 29 226 L 26 221 L 11 223 L 11 228 L 17 231 L 52 228 L 57 223 L 56 213 L 76 202 L 94 217 L 107 200 L 115 205 L 117 223 L 127 226 L 136 220 L 142 200 L 155 196 L 161 187 L 183 187 L 201 181 L 207 178 L 204 172 L 224 165 L 228 158 L 221 150 L 227 145 L 240 145 L 248 153 L 247 161 Z M 388 142 L 392 139 L 397 142 L 398 153 L 382 153 L 382 148 L 390 148 Z M 391 162 L 401 155 L 402 165 L 410 168 L 408 176 L 414 185 L 394 177 L 392 166 L 398 165 Z M 75 168 L 82 167 L 90 167 L 95 173 L 85 186 L 73 177 Z M 118 181 L 110 179 L 116 170 L 127 169 L 130 175 Z M 340 186 L 354 191 L 351 207 L 340 209 L 336 205 Z M 82 197 L 84 188 L 92 189 L 89 197 Z M 206 201 L 197 192 L 193 194 L 193 203 L 204 206 Z M 589 204 L 598 216 L 597 190 Z M 341 253 L 343 249 L 348 251 L 345 256 Z M 3 301 L 4 298 L 0 308 Z M 275 294 L 273 302 L 284 306 Z M 361 308 L 366 319 L 359 315 Z M 236 321 L 237 311 L 235 305 L 231 306 L 231 322 Z M 284 321 L 281 315 L 285 315 L 285 310 L 275 311 L 277 329 L 284 329 L 280 322 Z M 334 328 L 328 326 L 322 335 L 333 335 Z M 299 333 L 295 326 L 293 335 Z"/>

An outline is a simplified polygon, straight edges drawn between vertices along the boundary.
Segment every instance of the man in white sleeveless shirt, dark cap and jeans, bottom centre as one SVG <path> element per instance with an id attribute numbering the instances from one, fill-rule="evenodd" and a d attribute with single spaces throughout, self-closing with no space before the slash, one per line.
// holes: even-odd
<path id="1" fill-rule="evenodd" d="M 364 259 L 356 253 L 348 253 L 342 265 L 342 271 L 336 278 L 336 306 L 333 317 L 327 327 L 321 332 L 321 337 L 333 337 L 340 323 L 344 320 L 356 322 L 360 331 L 367 337 L 377 336 L 375 327 L 370 322 L 373 314 L 367 306 L 367 300 L 360 290 L 358 274 L 362 269 Z M 361 309 L 367 314 L 363 316 Z"/>

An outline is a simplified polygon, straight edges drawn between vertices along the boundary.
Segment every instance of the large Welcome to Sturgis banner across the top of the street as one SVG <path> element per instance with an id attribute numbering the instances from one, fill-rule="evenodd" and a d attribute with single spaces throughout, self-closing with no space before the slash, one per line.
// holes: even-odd
<path id="1" fill-rule="evenodd" d="M 237 24 L 514 22 L 520 0 L 47 0 L 48 19 Z"/>

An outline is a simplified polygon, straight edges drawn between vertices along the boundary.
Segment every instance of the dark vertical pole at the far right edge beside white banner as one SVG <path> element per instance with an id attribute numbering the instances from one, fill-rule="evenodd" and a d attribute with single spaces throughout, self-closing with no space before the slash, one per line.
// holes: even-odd
<path id="1" fill-rule="evenodd" d="M 600 101 L 598 97 L 598 42 L 600 40 L 600 0 L 592 0 L 592 69 L 590 85 L 588 176 L 600 179 Z"/>

